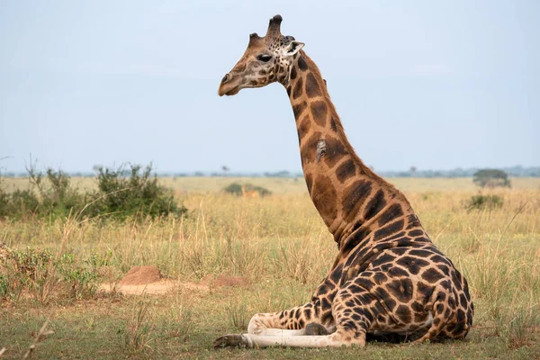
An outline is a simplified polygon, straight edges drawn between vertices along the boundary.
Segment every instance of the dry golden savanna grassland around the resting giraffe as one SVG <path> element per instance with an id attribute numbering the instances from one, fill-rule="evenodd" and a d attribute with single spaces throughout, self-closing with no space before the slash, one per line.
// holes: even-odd
<path id="1" fill-rule="evenodd" d="M 142 222 L 6 220 L 0 243 L 0 358 L 21 358 L 41 326 L 54 331 L 34 358 L 540 358 L 540 181 L 483 190 L 500 201 L 474 205 L 472 179 L 391 179 L 428 234 L 467 277 L 475 304 L 464 341 L 369 343 L 365 348 L 221 349 L 252 314 L 309 302 L 337 247 L 302 179 L 165 178 L 189 210 L 182 219 Z M 264 186 L 259 198 L 220 193 L 233 181 Z M 16 188 L 22 179 L 6 179 Z M 88 179 L 74 184 L 92 187 Z M 24 264 L 26 267 L 21 267 Z M 123 295 L 115 284 L 132 266 L 157 266 L 178 284 L 161 295 Z M 21 279 L 21 274 L 25 279 Z M 247 286 L 204 287 L 209 275 Z M 109 284 L 112 292 L 98 291 Z M 206 289 L 206 290 L 204 290 Z"/>

